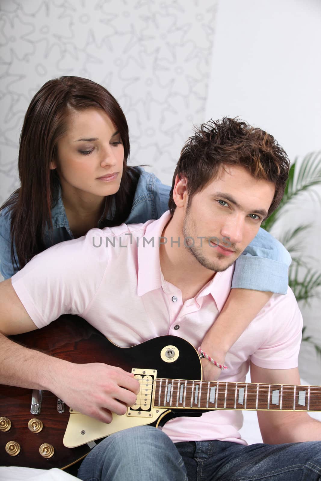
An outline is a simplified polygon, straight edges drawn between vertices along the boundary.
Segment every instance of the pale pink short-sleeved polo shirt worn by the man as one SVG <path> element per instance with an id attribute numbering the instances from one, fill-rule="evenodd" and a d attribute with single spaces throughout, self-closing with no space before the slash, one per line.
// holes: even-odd
<path id="1" fill-rule="evenodd" d="M 62 314 L 77 314 L 121 347 L 157 336 L 180 336 L 197 348 L 231 290 L 234 266 L 218 272 L 193 299 L 164 280 L 159 238 L 169 220 L 92 229 L 35 256 L 12 278 L 13 288 L 41 328 Z M 154 246 L 153 246 L 154 239 Z M 188 282 L 188 279 L 186 279 Z M 291 289 L 273 294 L 227 354 L 220 380 L 244 382 L 250 360 L 259 367 L 297 367 L 302 316 Z M 218 439 L 246 444 L 241 411 L 211 411 L 168 421 L 174 442 Z"/>

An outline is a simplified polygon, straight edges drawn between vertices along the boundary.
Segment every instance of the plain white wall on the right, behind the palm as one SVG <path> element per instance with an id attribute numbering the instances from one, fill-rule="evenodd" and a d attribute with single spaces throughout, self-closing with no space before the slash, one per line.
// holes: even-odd
<path id="1" fill-rule="evenodd" d="M 319 0 L 219 0 L 206 118 L 240 116 L 271 133 L 292 160 L 321 150 L 320 51 Z M 295 203 L 279 229 L 307 221 L 314 230 L 304 253 L 314 255 L 321 270 L 318 203 Z M 301 309 L 321 345 L 320 300 Z M 300 370 L 321 383 L 321 360 L 306 343 Z"/>

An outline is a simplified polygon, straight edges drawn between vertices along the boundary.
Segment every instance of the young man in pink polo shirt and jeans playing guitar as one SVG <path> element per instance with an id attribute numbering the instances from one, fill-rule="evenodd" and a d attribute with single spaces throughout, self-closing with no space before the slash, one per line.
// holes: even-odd
<path id="1" fill-rule="evenodd" d="M 5 336 L 71 313 L 119 346 L 174 334 L 197 348 L 229 295 L 234 261 L 278 206 L 288 169 L 285 152 L 260 129 L 233 119 L 202 126 L 181 153 L 169 212 L 58 244 L 0 284 L 0 382 L 48 389 L 103 422 L 111 411 L 125 414 L 139 392 L 131 374 L 65 362 Z M 232 346 L 220 380 L 243 382 L 251 365 L 253 382 L 299 384 L 301 329 L 292 291 L 274 294 Z M 79 477 L 320 479 L 319 422 L 286 411 L 261 411 L 258 419 L 269 444 L 246 446 L 239 411 L 120 431 L 90 452 Z"/>

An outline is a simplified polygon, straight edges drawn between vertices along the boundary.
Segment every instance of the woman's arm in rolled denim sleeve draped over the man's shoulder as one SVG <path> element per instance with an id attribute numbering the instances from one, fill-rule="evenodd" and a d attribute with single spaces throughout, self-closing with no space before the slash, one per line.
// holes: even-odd
<path id="1" fill-rule="evenodd" d="M 267 231 L 255 239 L 236 260 L 231 293 L 201 349 L 219 364 L 273 293 L 285 294 L 291 256 Z M 203 379 L 217 380 L 221 369 L 202 359 Z"/>

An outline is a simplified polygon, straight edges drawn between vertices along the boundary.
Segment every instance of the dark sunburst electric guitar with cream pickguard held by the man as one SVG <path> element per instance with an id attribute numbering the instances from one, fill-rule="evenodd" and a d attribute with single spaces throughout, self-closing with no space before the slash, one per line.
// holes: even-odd
<path id="1" fill-rule="evenodd" d="M 161 336 L 120 348 L 78 316 L 13 336 L 30 348 L 76 363 L 102 362 L 134 372 L 136 404 L 110 424 L 75 412 L 48 391 L 0 385 L 0 465 L 67 468 L 98 440 L 133 426 L 160 426 L 215 409 L 321 411 L 320 386 L 201 381 L 199 355 L 187 341 Z M 86 379 L 84 379 L 86 382 Z"/>

